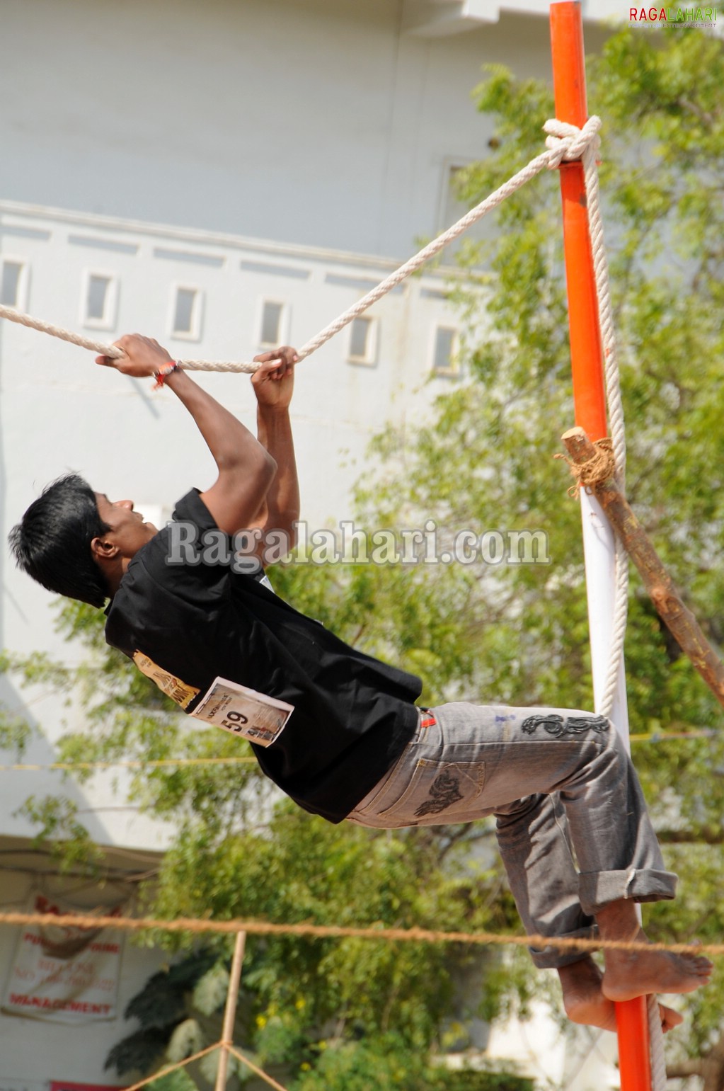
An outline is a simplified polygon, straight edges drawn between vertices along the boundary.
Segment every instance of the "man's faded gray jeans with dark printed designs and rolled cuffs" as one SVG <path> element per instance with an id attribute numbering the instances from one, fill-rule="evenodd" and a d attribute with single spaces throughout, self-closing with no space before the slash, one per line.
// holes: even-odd
<path id="1" fill-rule="evenodd" d="M 528 934 L 594 936 L 612 901 L 673 898 L 636 770 L 604 717 L 467 703 L 431 709 L 384 779 L 348 815 L 378 829 L 495 815 Z M 424 721 L 421 720 L 421 723 Z M 539 967 L 580 954 L 531 948 Z"/>

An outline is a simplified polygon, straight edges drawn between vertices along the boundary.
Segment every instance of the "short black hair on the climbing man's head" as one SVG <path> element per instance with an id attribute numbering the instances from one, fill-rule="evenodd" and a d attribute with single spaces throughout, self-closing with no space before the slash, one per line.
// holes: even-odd
<path id="1" fill-rule="evenodd" d="M 8 540 L 17 566 L 47 590 L 102 607 L 110 591 L 90 542 L 108 530 L 88 482 L 67 473 L 46 485 Z"/>

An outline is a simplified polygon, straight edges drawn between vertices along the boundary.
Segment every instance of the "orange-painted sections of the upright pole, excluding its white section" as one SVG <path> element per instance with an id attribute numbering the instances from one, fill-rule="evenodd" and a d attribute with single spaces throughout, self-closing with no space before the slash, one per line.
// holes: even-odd
<path id="1" fill-rule="evenodd" d="M 580 128 L 588 105 L 578 0 L 551 4 L 551 48 L 556 117 Z M 559 172 L 576 423 L 600 440 L 606 434 L 606 400 L 583 166 L 562 163 Z M 622 1091 L 651 1091 L 645 996 L 617 1004 L 616 1024 Z"/>

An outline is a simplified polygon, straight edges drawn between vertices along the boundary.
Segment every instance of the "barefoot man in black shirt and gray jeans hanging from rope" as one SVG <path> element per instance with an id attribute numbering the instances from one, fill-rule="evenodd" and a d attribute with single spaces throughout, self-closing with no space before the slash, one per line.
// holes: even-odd
<path id="1" fill-rule="evenodd" d="M 419 679 L 343 644 L 265 585 L 255 558 L 275 535 L 291 541 L 299 518 L 294 350 L 257 357 L 255 437 L 157 341 L 132 335 L 117 345 L 123 357 L 97 362 L 167 385 L 206 441 L 217 480 L 186 493 L 157 531 L 131 501 L 61 478 L 10 535 L 21 567 L 57 594 L 96 607 L 110 599 L 107 642 L 186 714 L 248 739 L 304 810 L 377 828 L 495 815 L 529 935 L 644 939 L 636 903 L 673 898 L 676 876 L 604 717 L 418 708 Z M 572 1020 L 611 1030 L 614 1000 L 692 992 L 712 970 L 701 956 L 605 946 L 603 974 L 580 951 L 543 943 L 531 954 L 557 969 Z M 661 1018 L 665 1030 L 681 1021 L 665 1007 Z"/>

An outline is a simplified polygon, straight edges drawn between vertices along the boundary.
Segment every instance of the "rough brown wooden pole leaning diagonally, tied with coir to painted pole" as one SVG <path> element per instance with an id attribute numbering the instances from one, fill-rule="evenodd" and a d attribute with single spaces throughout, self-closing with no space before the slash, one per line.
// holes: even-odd
<path id="1" fill-rule="evenodd" d="M 571 428 L 562 439 L 576 466 L 586 466 L 592 459 L 599 458 L 599 452 L 582 428 Z M 619 491 L 615 479 L 608 476 L 600 481 L 588 482 L 588 487 L 593 490 L 612 527 L 626 547 L 660 618 L 720 705 L 724 706 L 724 663 L 704 636 L 695 615 L 681 600 L 674 580 L 630 504 Z"/>

